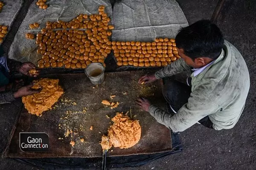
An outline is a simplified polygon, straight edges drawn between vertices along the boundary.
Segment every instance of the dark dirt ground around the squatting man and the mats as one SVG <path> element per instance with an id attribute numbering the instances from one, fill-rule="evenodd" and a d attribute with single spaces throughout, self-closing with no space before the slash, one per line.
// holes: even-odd
<path id="1" fill-rule="evenodd" d="M 17 22 L 12 26 L 4 48 L 6 51 L 31 0 L 26 0 Z M 218 0 L 177 0 L 189 23 L 210 19 Z M 180 133 L 183 152 L 166 156 L 136 168 L 123 170 L 254 170 L 256 167 L 256 1 L 226 0 L 217 19 L 225 39 L 239 49 L 250 72 L 250 91 L 244 112 L 237 125 L 230 130 L 216 131 L 201 125 L 193 125 Z M 15 121 L 15 105 L 19 102 L 0 107 L 0 152 L 3 152 Z M 16 106 L 17 107 L 17 106 Z M 253 137 L 254 136 L 254 137 Z M 0 170 L 38 169 L 11 159 L 0 159 Z M 99 169 L 99 167 L 95 167 Z M 117 168 L 116 168 L 117 169 Z M 120 169 L 120 168 L 118 168 Z"/>

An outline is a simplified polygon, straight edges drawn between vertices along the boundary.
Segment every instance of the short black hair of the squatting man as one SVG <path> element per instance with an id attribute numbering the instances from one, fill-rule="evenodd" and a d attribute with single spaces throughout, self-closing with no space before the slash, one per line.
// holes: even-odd
<path id="1" fill-rule="evenodd" d="M 220 29 L 209 20 L 200 20 L 181 28 L 175 37 L 177 48 L 193 60 L 199 57 L 216 59 L 223 48 L 224 39 Z"/>

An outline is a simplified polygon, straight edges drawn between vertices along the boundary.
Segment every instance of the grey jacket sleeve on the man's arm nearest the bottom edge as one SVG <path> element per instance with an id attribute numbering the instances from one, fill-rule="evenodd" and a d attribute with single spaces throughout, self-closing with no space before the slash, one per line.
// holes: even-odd
<path id="1" fill-rule="evenodd" d="M 203 87 L 201 87 L 203 88 Z M 204 96 L 200 87 L 190 94 L 188 102 L 173 116 L 155 105 L 149 107 L 149 113 L 157 122 L 171 128 L 174 132 L 181 132 L 194 125 L 205 116 L 215 113 L 219 105 Z"/>

